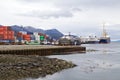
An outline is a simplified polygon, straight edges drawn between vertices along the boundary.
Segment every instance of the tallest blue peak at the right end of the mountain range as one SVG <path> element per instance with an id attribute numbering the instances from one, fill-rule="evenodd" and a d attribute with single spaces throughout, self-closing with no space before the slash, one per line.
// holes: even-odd
<path id="1" fill-rule="evenodd" d="M 63 34 L 57 29 L 50 29 L 45 31 L 46 34 L 50 35 L 54 39 L 59 39 Z"/>

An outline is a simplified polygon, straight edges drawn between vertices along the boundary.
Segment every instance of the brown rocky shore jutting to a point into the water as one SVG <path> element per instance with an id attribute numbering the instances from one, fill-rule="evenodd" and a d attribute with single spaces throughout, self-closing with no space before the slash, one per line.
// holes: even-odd
<path id="1" fill-rule="evenodd" d="M 37 55 L 0 55 L 0 80 L 45 77 L 75 66 L 72 62 Z"/>

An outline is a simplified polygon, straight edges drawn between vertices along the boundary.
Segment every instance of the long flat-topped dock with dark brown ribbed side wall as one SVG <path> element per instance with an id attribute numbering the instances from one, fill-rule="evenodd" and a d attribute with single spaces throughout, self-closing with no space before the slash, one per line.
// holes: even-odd
<path id="1" fill-rule="evenodd" d="M 53 46 L 53 45 L 0 45 L 0 54 L 12 55 L 61 55 L 72 52 L 85 53 L 82 46 Z"/>

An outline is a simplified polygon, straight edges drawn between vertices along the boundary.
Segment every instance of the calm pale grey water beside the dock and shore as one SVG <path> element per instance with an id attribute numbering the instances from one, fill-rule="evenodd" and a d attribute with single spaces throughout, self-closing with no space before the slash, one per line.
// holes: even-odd
<path id="1" fill-rule="evenodd" d="M 55 55 L 59 58 L 72 61 L 78 66 L 66 69 L 45 78 L 28 80 L 120 80 L 120 43 L 87 44 L 87 49 L 98 50 L 86 54 Z"/>

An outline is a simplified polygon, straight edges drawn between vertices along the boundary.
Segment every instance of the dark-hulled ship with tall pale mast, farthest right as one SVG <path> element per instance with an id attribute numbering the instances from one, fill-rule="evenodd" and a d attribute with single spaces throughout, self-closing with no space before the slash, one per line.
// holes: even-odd
<path id="1" fill-rule="evenodd" d="M 99 43 L 110 43 L 110 36 L 108 36 L 108 33 L 105 30 L 105 24 L 103 24 L 103 33 L 102 37 L 99 39 Z"/>

